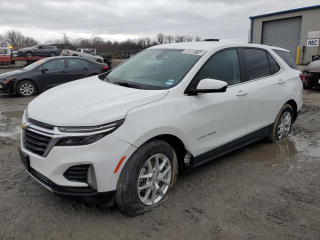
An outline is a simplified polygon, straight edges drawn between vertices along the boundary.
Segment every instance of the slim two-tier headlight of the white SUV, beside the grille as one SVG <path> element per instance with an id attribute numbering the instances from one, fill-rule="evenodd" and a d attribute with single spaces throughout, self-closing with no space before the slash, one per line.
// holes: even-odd
<path id="1" fill-rule="evenodd" d="M 57 142 L 56 145 L 86 145 L 93 143 L 106 136 L 107 134 L 113 132 L 123 122 L 124 119 L 120 119 L 97 126 L 59 126 L 58 129 L 61 132 L 98 132 L 92 135 L 63 137 Z"/>

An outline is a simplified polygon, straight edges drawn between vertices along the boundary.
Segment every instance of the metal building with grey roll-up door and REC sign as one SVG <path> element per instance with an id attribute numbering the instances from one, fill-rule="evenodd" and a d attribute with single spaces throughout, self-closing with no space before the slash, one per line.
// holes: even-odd
<path id="1" fill-rule="evenodd" d="M 250 16 L 250 41 L 291 51 L 294 58 L 300 46 L 298 63 L 320 55 L 320 5 Z"/>

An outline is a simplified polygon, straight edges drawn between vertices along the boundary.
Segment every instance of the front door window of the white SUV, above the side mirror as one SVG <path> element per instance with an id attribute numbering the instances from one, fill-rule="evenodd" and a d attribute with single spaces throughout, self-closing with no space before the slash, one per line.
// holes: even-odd
<path id="1" fill-rule="evenodd" d="M 225 81 L 228 85 L 240 83 L 240 67 L 236 49 L 217 53 L 207 61 L 196 76 L 195 82 L 204 78 Z"/>

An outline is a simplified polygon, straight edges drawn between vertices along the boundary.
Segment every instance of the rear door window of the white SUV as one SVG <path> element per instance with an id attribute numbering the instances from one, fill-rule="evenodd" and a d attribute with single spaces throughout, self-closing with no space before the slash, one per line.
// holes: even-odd
<path id="1" fill-rule="evenodd" d="M 249 80 L 270 75 L 269 61 L 264 50 L 243 49 Z"/>

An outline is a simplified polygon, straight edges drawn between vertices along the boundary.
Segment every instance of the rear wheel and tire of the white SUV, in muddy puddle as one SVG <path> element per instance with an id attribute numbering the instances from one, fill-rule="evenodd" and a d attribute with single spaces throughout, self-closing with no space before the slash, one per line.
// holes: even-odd
<path id="1" fill-rule="evenodd" d="M 287 137 L 293 123 L 293 109 L 290 104 L 285 103 L 279 110 L 272 124 L 267 142 L 274 143 Z"/>

